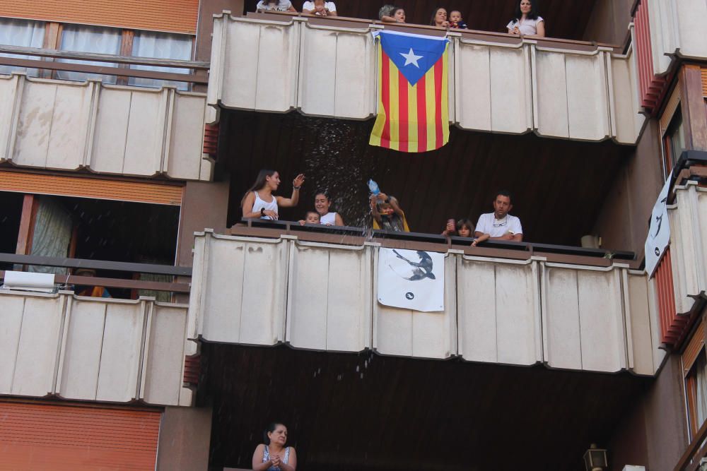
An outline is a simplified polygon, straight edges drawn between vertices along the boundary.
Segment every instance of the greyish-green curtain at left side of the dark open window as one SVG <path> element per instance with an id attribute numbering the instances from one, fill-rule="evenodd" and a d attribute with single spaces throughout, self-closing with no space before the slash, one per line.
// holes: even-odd
<path id="1" fill-rule="evenodd" d="M 45 257 L 68 256 L 73 228 L 71 215 L 64 209 L 64 206 L 51 198 L 40 197 L 30 254 Z M 30 266 L 28 271 L 66 274 L 66 268 L 57 267 Z"/>

